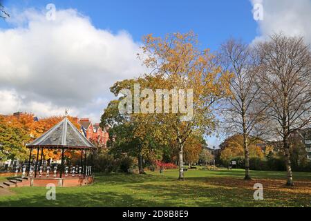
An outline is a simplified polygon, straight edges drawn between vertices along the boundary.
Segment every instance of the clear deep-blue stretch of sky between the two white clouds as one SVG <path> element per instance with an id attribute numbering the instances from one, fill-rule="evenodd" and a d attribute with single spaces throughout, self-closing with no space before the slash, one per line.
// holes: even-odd
<path id="1" fill-rule="evenodd" d="M 135 41 L 149 33 L 163 36 L 168 32 L 194 30 L 202 47 L 216 50 L 229 37 L 243 37 L 250 42 L 258 34 L 249 0 L 6 0 L 3 3 L 20 10 L 44 10 L 48 3 L 54 3 L 57 10 L 74 8 L 90 17 L 96 28 L 126 30 Z M 10 26 L 0 21 L 0 27 Z"/>

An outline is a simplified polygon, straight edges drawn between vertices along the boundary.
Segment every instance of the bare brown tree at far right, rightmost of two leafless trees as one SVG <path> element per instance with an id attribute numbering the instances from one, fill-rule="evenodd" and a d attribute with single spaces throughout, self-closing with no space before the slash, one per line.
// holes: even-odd
<path id="1" fill-rule="evenodd" d="M 289 137 L 311 123 L 311 52 L 302 37 L 273 35 L 258 44 L 261 61 L 258 86 L 265 115 L 271 119 L 274 140 L 282 140 L 287 185 L 294 185 Z"/>

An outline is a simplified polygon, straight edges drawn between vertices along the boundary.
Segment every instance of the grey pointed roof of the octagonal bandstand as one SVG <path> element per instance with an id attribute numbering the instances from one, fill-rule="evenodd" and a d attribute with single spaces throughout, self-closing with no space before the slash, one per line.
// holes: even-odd
<path id="1" fill-rule="evenodd" d="M 26 145 L 27 148 L 95 148 L 67 117 Z"/>

